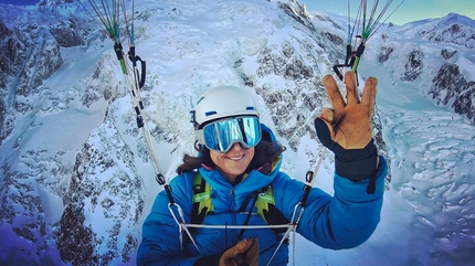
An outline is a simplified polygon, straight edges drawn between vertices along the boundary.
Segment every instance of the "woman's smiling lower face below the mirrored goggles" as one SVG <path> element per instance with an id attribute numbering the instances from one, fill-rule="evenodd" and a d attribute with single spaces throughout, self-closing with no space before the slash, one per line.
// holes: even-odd
<path id="1" fill-rule="evenodd" d="M 252 158 L 254 158 L 254 147 L 244 149 L 240 143 L 234 143 L 226 153 L 210 150 L 210 156 L 223 177 L 234 184 L 238 175 L 247 169 Z"/>

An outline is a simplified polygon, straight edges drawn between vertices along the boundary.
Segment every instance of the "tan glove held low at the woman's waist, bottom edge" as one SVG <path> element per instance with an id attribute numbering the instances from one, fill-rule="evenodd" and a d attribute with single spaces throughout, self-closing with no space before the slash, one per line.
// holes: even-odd
<path id="1" fill-rule="evenodd" d="M 220 266 L 258 266 L 258 241 L 245 238 L 221 255 Z"/>

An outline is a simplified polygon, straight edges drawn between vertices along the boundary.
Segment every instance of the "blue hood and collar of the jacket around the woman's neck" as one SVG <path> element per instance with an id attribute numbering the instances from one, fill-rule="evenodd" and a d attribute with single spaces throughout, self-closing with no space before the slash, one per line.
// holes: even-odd
<path id="1" fill-rule="evenodd" d="M 262 139 L 268 139 L 274 145 L 278 145 L 275 138 L 274 132 L 264 124 L 261 124 L 262 130 Z M 268 166 L 262 166 L 258 169 L 252 170 L 247 175 L 243 178 L 243 180 L 236 184 L 232 185 L 225 180 L 225 178 L 221 174 L 221 172 L 214 168 L 205 168 L 201 167 L 199 169 L 200 174 L 203 179 L 213 188 L 213 190 L 225 190 L 234 189 L 238 192 L 254 192 L 261 188 L 267 187 L 276 177 L 281 169 L 283 156 L 281 155 L 276 160 L 274 160 Z"/>

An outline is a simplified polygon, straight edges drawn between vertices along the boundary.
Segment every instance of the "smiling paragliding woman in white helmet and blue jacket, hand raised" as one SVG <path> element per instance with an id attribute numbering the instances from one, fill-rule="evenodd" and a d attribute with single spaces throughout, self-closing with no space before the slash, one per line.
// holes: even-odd
<path id="1" fill-rule="evenodd" d="M 313 188 L 296 228 L 307 240 L 332 249 L 355 247 L 372 234 L 379 222 L 387 174 L 386 160 L 377 155 L 370 125 L 377 81 L 367 81 L 361 102 L 355 74 L 347 73 L 345 81 L 347 103 L 335 79 L 324 77 L 334 108 L 324 109 L 315 119 L 319 140 L 335 153 L 335 195 Z M 209 89 L 193 113 L 200 153 L 183 157 L 177 169 L 179 175 L 170 182 L 172 196 L 184 222 L 190 223 L 193 180 L 202 177 L 211 188 L 212 212 L 202 215 L 200 223 L 221 227 L 190 231 L 196 245 L 189 237 L 180 243 L 178 224 L 168 209 L 169 198 L 160 192 L 144 223 L 137 264 L 286 265 L 288 248 L 279 246 L 281 233 L 232 227 L 268 223 L 262 215 L 253 215 L 256 203 L 252 199 L 263 193 L 263 188 L 272 189 L 274 204 L 268 206 L 275 206 L 291 221 L 304 196 L 304 183 L 279 171 L 283 148 L 273 132 L 260 124 L 255 104 L 242 88 Z"/>

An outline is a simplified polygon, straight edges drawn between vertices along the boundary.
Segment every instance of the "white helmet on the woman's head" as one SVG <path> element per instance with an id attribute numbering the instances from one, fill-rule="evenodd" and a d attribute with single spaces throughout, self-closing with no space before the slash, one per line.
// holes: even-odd
<path id="1" fill-rule="evenodd" d="M 194 129 L 224 117 L 256 116 L 258 111 L 251 95 L 241 87 L 219 86 L 205 91 L 194 106 Z"/>

